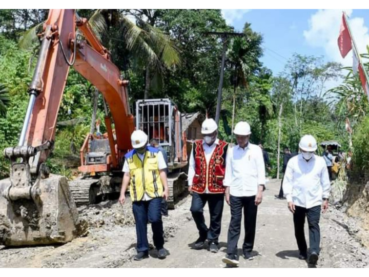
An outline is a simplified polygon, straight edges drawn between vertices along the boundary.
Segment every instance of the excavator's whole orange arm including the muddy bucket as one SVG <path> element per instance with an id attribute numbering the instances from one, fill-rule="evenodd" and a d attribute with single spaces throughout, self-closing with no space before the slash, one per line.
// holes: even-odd
<path id="1" fill-rule="evenodd" d="M 0 236 L 0 244 L 65 243 L 80 230 L 67 180 L 51 175 L 45 165 L 53 148 L 57 114 L 71 66 L 103 94 L 109 105 L 116 131 L 115 142 L 107 116 L 113 167 L 131 148 L 134 122 L 127 82 L 121 79 L 108 50 L 86 19 L 80 18 L 75 9 L 50 9 L 19 143 L 5 149 L 11 168 L 10 179 L 0 181 L 0 229 L 6 227 L 0 230 L 5 234 Z"/>

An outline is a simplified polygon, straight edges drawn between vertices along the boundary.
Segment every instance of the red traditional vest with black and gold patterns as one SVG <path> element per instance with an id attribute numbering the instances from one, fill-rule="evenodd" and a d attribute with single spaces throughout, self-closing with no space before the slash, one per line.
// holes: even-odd
<path id="1" fill-rule="evenodd" d="M 194 144 L 195 177 L 192 191 L 204 193 L 208 188 L 210 193 L 224 193 L 226 189 L 223 187 L 223 180 L 229 144 L 219 141 L 208 167 L 202 143 L 198 141 Z"/>

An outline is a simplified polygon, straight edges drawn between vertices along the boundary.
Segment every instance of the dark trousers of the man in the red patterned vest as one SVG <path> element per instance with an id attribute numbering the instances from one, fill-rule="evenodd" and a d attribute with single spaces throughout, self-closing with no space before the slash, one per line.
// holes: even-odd
<path id="1" fill-rule="evenodd" d="M 203 208 L 209 203 L 210 228 L 205 223 Z M 203 241 L 219 243 L 221 231 L 221 220 L 224 208 L 224 194 L 199 194 L 194 192 L 192 195 L 191 212 L 196 223 L 200 238 Z"/>

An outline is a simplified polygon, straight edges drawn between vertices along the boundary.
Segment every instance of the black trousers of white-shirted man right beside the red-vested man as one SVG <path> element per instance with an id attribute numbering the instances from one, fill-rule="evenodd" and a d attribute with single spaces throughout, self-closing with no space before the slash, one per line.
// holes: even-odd
<path id="1" fill-rule="evenodd" d="M 227 253 L 238 254 L 238 240 L 241 234 L 242 209 L 244 214 L 245 237 L 243 241 L 243 253 L 251 253 L 254 249 L 256 217 L 258 207 L 255 205 L 256 196 L 235 197 L 230 196 L 231 202 L 231 223 L 228 231 L 228 249 Z"/>

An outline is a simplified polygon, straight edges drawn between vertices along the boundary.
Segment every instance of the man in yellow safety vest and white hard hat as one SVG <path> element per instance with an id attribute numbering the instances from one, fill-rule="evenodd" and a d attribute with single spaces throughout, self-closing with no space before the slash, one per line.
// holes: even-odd
<path id="1" fill-rule="evenodd" d="M 167 250 L 164 248 L 161 201 L 168 200 L 169 197 L 167 164 L 158 149 L 148 147 L 146 133 L 140 130 L 134 131 L 131 141 L 134 150 L 125 156 L 119 202 L 122 205 L 126 202 L 126 191 L 130 185 L 137 233 L 137 255 L 134 260 L 141 261 L 149 258 L 148 222 L 152 226 L 158 258 L 165 259 Z"/>

